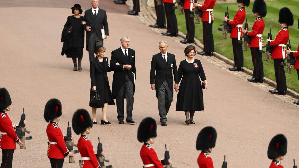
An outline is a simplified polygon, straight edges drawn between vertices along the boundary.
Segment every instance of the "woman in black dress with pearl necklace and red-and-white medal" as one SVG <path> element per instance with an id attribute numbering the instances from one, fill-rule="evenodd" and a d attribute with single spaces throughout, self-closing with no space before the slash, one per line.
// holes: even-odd
<path id="1" fill-rule="evenodd" d="M 183 79 L 180 83 L 179 90 L 176 90 L 179 91 L 176 101 L 176 111 L 185 111 L 185 123 L 187 125 L 195 124 L 193 121 L 195 111 L 203 110 L 202 84 L 200 79 L 205 84 L 204 89 L 208 87 L 201 62 L 194 58 L 195 53 L 196 50 L 194 46 L 187 46 L 185 48 L 187 58 L 181 61 L 178 70 L 179 80 L 182 79 L 182 76 Z"/>

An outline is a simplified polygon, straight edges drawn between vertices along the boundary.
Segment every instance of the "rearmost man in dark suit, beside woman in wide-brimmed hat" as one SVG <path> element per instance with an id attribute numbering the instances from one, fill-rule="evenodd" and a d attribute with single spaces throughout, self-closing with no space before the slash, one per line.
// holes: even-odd
<path id="1" fill-rule="evenodd" d="M 89 53 L 89 62 L 94 58 L 95 47 L 103 45 L 104 38 L 107 39 L 109 35 L 106 11 L 98 7 L 98 0 L 92 0 L 91 5 L 92 8 L 84 12 L 87 23 L 83 25 L 86 30 L 86 50 Z M 104 29 L 103 33 L 102 29 Z"/>

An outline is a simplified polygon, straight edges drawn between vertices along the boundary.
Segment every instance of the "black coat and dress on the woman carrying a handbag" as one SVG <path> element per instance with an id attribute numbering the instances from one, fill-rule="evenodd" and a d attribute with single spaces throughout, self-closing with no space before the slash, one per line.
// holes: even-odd
<path id="1" fill-rule="evenodd" d="M 90 98 L 93 95 L 92 88 L 96 86 L 97 93 L 100 96 L 100 101 L 97 103 L 90 103 L 89 106 L 91 107 L 104 107 L 104 103 L 108 104 L 115 104 L 114 100 L 112 99 L 111 90 L 109 86 L 109 80 L 107 76 L 107 72 L 111 72 L 108 64 L 108 58 L 103 57 L 103 62 L 100 62 L 99 59 L 96 57 L 91 60 L 90 62 L 90 79 L 91 79 L 91 87 L 90 87 Z"/>

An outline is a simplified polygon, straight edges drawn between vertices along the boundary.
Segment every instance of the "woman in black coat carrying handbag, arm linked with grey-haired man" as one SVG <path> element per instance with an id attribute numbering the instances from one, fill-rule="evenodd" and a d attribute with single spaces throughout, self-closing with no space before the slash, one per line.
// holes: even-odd
<path id="1" fill-rule="evenodd" d="M 91 110 L 93 112 L 93 124 L 97 124 L 96 111 L 97 108 L 102 108 L 103 117 L 101 124 L 111 124 L 106 118 L 107 106 L 108 104 L 115 104 L 111 95 L 111 90 L 109 86 L 109 80 L 107 77 L 107 72 L 111 72 L 108 64 L 108 58 L 104 57 L 106 48 L 102 45 L 96 47 L 97 57 L 92 59 L 90 62 L 90 79 L 91 79 L 91 89 L 90 89 L 90 99 L 93 96 L 93 91 L 97 91 L 100 96 L 100 101 L 96 103 L 90 103 Z"/>

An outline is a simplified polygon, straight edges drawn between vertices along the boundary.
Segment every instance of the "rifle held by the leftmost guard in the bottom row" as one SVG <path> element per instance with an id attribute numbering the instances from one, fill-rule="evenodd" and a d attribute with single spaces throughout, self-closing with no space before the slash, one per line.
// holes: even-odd
<path id="1" fill-rule="evenodd" d="M 21 139 L 21 142 L 24 144 L 23 147 L 20 146 L 20 149 L 26 149 L 25 146 L 25 140 L 32 140 L 32 136 L 25 136 L 25 133 L 30 133 L 29 130 L 27 130 L 26 125 L 24 124 L 24 121 L 26 119 L 26 114 L 24 114 L 24 108 L 23 108 L 23 113 L 21 115 L 21 120 L 19 122 L 20 128 L 16 128 L 16 134 L 19 139 Z"/>

